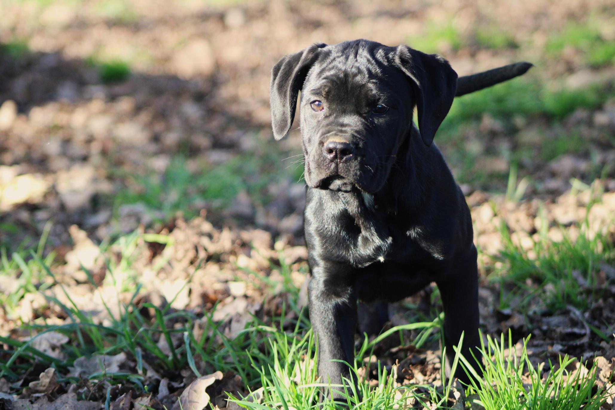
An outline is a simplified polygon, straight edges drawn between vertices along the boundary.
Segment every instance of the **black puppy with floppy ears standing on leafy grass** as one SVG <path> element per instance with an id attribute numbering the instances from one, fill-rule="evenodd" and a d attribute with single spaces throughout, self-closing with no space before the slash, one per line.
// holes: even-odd
<path id="1" fill-rule="evenodd" d="M 367 40 L 314 44 L 274 66 L 276 139 L 289 131 L 301 90 L 309 314 L 323 382 L 351 377 L 339 360 L 354 361 L 357 298 L 392 302 L 431 282 L 442 295 L 447 361 L 461 332 L 462 353 L 472 360 L 470 348 L 480 345 L 472 220 L 432 140 L 456 94 L 530 66 L 510 65 L 458 84 L 438 55 Z M 456 376 L 467 381 L 462 371 Z"/>

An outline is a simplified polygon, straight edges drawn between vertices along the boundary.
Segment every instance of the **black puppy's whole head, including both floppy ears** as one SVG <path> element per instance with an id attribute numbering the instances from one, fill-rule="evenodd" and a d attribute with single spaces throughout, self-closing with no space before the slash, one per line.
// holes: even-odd
<path id="1" fill-rule="evenodd" d="M 418 108 L 431 145 L 453 102 L 457 74 L 435 54 L 367 40 L 314 44 L 273 68 L 274 137 L 290 130 L 301 91 L 300 123 L 309 187 L 379 191 Z"/>

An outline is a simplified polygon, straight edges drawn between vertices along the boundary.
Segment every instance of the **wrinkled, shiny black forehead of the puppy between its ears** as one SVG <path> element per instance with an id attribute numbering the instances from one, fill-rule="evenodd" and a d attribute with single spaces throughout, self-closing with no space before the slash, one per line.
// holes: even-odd
<path id="1" fill-rule="evenodd" d="M 392 92 L 403 81 L 400 70 L 391 65 L 391 47 L 344 43 L 327 46 L 312 66 L 304 92 L 328 95 L 332 92 Z"/>

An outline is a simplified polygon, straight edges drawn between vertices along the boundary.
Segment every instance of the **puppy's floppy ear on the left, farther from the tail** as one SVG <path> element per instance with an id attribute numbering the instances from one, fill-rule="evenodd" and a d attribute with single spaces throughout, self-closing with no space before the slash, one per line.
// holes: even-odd
<path id="1" fill-rule="evenodd" d="M 271 105 L 271 125 L 276 140 L 290 130 L 295 118 L 297 96 L 309 69 L 318 58 L 319 51 L 327 44 L 317 43 L 303 51 L 285 55 L 271 70 L 269 83 L 269 105 Z"/>

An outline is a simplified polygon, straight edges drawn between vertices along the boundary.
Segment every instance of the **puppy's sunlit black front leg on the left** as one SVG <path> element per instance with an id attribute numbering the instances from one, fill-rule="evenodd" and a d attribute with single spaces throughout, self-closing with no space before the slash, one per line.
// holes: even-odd
<path id="1" fill-rule="evenodd" d="M 357 327 L 357 295 L 347 268 L 320 263 L 312 268 L 309 282 L 309 315 L 318 340 L 318 374 L 327 384 L 354 380 L 348 364 L 354 363 L 354 334 Z M 342 388 L 332 388 L 331 397 L 340 398 Z"/>

